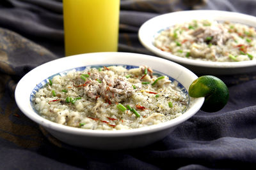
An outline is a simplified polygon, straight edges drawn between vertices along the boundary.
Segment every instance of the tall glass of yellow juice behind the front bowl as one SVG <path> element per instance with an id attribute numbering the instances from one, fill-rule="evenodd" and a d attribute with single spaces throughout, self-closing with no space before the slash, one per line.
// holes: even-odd
<path id="1" fill-rule="evenodd" d="M 65 55 L 116 52 L 120 0 L 63 0 Z"/>

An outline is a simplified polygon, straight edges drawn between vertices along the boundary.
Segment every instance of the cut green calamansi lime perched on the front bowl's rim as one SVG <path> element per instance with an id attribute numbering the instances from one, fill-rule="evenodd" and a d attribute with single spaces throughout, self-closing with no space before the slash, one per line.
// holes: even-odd
<path id="1" fill-rule="evenodd" d="M 189 86 L 189 96 L 205 97 L 201 108 L 205 112 L 221 110 L 228 101 L 229 92 L 225 83 L 215 76 L 200 76 Z"/>

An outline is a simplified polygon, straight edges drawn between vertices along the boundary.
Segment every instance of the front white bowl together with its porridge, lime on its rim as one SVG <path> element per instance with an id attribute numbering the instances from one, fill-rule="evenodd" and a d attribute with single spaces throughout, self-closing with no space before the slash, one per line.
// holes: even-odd
<path id="1" fill-rule="evenodd" d="M 100 150 L 150 145 L 200 110 L 198 77 L 170 60 L 138 53 L 85 53 L 32 69 L 15 100 L 63 143 Z"/>

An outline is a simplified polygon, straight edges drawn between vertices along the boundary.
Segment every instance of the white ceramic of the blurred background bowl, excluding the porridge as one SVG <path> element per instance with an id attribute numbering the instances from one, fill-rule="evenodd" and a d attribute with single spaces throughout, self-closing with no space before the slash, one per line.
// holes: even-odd
<path id="1" fill-rule="evenodd" d="M 220 75 L 249 73 L 256 71 L 256 60 L 243 62 L 211 62 L 186 59 L 172 55 L 168 52 L 163 52 L 153 45 L 154 38 L 156 38 L 161 30 L 172 27 L 172 25 L 175 24 L 182 24 L 191 20 L 200 19 L 230 21 L 256 27 L 256 17 L 250 15 L 230 11 L 191 10 L 166 13 L 164 15 L 154 17 L 141 25 L 138 36 L 142 45 L 151 52 L 156 53 L 156 55 L 159 55 L 165 59 L 177 62 L 182 66 L 187 67 L 194 73 Z"/>

